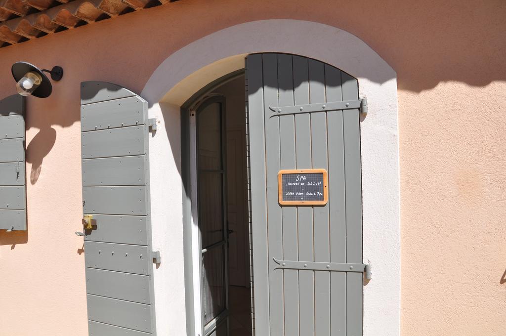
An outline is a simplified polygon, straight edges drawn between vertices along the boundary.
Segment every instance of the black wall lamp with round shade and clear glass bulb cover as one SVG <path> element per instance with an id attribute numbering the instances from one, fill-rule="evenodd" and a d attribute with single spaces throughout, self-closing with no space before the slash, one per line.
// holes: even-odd
<path id="1" fill-rule="evenodd" d="M 55 81 L 63 77 L 63 69 L 60 66 L 55 66 L 51 70 L 40 70 L 30 63 L 16 62 L 11 70 L 12 76 L 17 81 L 16 90 L 21 96 L 49 97 L 53 91 L 53 86 L 44 72 L 50 73 L 51 79 Z"/>

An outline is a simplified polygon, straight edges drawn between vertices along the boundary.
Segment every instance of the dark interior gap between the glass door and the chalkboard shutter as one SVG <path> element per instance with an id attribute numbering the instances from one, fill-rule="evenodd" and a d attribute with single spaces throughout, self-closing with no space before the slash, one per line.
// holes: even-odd
<path id="1" fill-rule="evenodd" d="M 225 134 L 222 138 L 224 139 L 222 146 L 224 146 L 224 171 L 226 172 L 224 199 L 226 200 L 225 208 L 228 230 L 228 263 L 226 264 L 228 264 L 229 333 L 227 335 L 224 332 L 222 335 L 219 331 L 221 328 L 218 328 L 216 335 L 248 336 L 252 335 L 252 323 L 244 75 L 239 74 L 232 79 L 222 82 L 219 86 L 208 92 L 206 96 L 224 98 L 223 116 L 225 118 L 223 122 Z M 197 129 L 201 129 L 202 126 L 197 126 Z M 203 188 L 199 193 L 205 192 L 205 190 Z M 217 196 L 213 195 L 212 192 L 209 195 L 200 195 L 199 209 L 209 209 L 209 206 L 202 204 L 202 202 L 213 199 L 213 197 Z M 210 203 L 213 203 L 213 201 Z M 202 213 L 199 210 L 199 217 L 210 215 Z M 199 220 L 199 223 L 202 223 L 202 221 Z M 209 228 L 209 230 L 213 229 L 216 228 Z M 202 230 L 206 230 L 206 228 L 201 227 L 200 230 L 202 234 Z M 214 267 L 213 265 L 206 266 L 204 263 L 203 273 L 206 276 L 214 276 L 213 274 L 216 274 L 216 270 L 213 269 Z M 205 270 L 205 268 L 208 268 L 208 270 Z M 208 283 L 212 283 L 213 281 L 204 279 L 204 282 Z M 211 297 L 204 298 L 204 300 L 208 302 L 220 300 L 218 298 L 222 296 L 220 290 L 208 289 L 207 291 L 206 295 Z M 213 296 L 217 296 L 217 298 L 212 298 Z"/>

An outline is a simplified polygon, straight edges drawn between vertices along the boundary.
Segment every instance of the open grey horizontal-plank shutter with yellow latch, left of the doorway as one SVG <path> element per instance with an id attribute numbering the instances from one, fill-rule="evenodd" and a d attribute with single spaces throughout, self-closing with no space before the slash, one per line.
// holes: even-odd
<path id="1" fill-rule="evenodd" d="M 111 83 L 81 83 L 89 332 L 155 334 L 148 104 Z"/>

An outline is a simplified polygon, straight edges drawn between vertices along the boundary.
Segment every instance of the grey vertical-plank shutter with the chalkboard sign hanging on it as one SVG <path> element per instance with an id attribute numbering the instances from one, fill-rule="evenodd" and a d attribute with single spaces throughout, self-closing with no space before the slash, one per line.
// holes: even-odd
<path id="1" fill-rule="evenodd" d="M 256 334 L 362 335 L 357 80 L 286 54 L 249 55 L 246 78 Z M 327 170 L 328 203 L 280 206 L 285 169 Z"/>

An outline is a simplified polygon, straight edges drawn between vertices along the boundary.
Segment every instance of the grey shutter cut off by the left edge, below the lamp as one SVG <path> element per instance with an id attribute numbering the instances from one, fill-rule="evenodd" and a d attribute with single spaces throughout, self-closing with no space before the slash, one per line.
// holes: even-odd
<path id="1" fill-rule="evenodd" d="M 0 229 L 26 230 L 25 98 L 0 100 Z"/>

